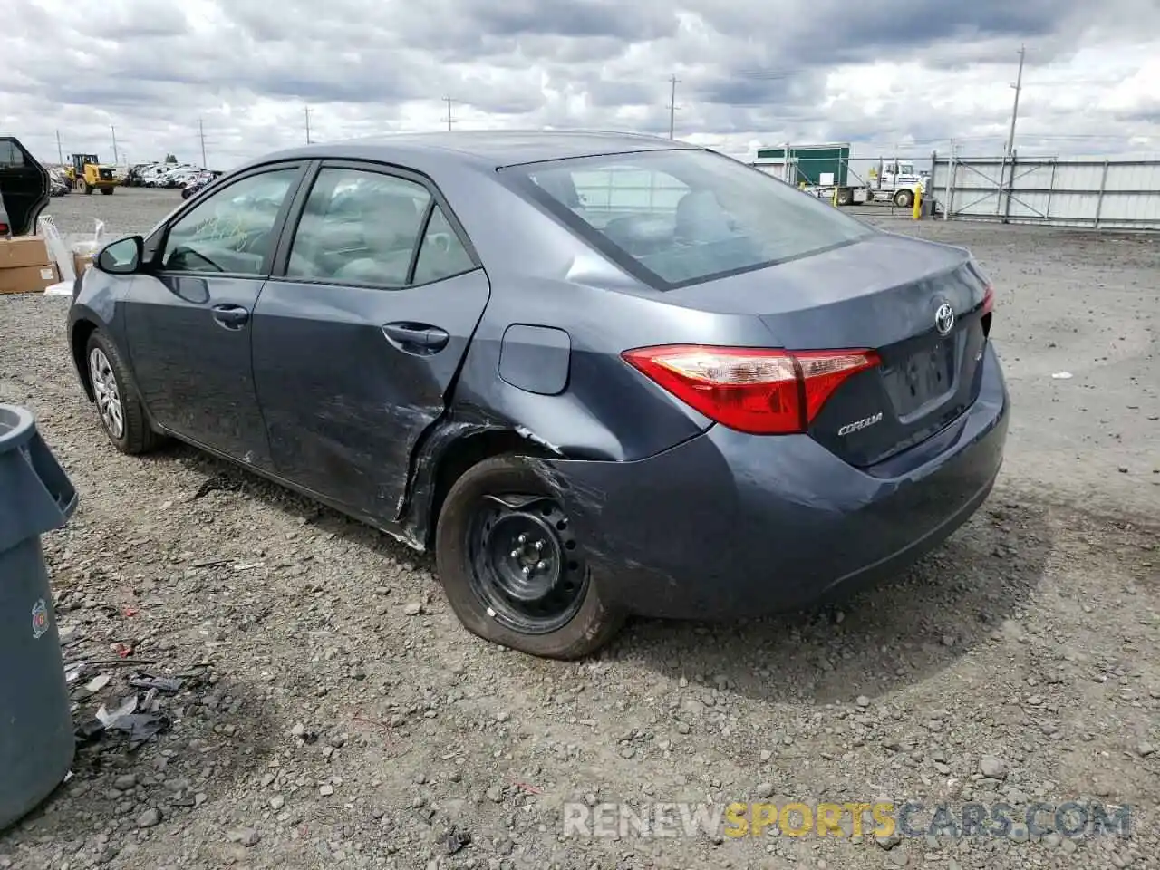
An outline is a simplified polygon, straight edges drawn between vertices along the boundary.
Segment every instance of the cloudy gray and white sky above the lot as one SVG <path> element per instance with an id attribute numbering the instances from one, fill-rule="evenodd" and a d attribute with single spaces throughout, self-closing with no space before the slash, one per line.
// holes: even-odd
<path id="1" fill-rule="evenodd" d="M 397 130 L 1160 154 L 1160 0 L 7 0 L 0 131 L 211 168 Z M 201 128 L 200 128 L 201 123 Z"/>

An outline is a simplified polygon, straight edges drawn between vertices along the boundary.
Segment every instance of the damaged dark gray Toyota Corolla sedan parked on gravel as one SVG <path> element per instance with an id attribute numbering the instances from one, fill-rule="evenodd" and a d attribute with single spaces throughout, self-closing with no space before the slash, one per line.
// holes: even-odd
<path id="1" fill-rule="evenodd" d="M 75 292 L 117 449 L 177 437 L 434 548 L 464 625 L 537 655 L 890 575 L 1002 462 L 967 252 L 667 139 L 282 152 Z"/>

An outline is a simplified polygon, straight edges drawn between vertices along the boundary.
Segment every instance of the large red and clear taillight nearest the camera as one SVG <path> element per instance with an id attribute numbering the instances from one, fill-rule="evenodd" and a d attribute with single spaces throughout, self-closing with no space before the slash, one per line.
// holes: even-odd
<path id="1" fill-rule="evenodd" d="M 767 350 L 666 345 L 622 355 L 711 420 L 751 435 L 805 432 L 842 382 L 879 364 L 873 350 Z"/>

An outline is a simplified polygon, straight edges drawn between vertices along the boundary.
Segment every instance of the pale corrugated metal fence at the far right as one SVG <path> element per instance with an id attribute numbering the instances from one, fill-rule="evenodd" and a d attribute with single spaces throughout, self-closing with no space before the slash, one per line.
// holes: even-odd
<path id="1" fill-rule="evenodd" d="M 931 159 L 944 218 L 1109 230 L 1160 230 L 1160 160 Z"/>

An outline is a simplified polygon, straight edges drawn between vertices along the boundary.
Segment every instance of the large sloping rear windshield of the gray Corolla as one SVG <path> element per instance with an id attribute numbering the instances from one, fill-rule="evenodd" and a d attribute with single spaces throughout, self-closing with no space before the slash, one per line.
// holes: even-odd
<path id="1" fill-rule="evenodd" d="M 581 238 L 658 289 L 792 260 L 876 232 L 766 173 L 697 148 L 512 167 Z"/>

